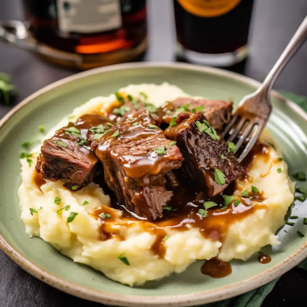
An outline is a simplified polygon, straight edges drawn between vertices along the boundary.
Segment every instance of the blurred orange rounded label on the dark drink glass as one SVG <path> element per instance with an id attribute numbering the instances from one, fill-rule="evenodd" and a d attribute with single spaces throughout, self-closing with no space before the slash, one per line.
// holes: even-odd
<path id="1" fill-rule="evenodd" d="M 242 0 L 177 0 L 189 13 L 199 17 L 216 17 L 228 13 Z"/>

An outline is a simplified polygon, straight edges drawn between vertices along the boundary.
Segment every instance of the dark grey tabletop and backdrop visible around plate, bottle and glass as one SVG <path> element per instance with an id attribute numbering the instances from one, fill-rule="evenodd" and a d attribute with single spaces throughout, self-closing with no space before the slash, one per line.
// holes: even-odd
<path id="1" fill-rule="evenodd" d="M 171 0 L 148 0 L 150 45 L 146 61 L 174 61 L 175 30 Z M 307 14 L 306 0 L 255 0 L 250 32 L 250 56 L 236 68 L 262 81 Z M 23 20 L 20 0 L 0 1 L 0 20 Z M 0 72 L 12 75 L 19 88 L 14 105 L 47 84 L 76 71 L 55 67 L 35 55 L 0 43 Z M 307 95 L 307 44 L 290 61 L 275 86 L 277 90 Z M 0 105 L 0 117 L 14 105 Z M 307 272 L 293 268 L 284 274 L 262 306 L 286 306 L 305 300 Z M 37 280 L 0 251 L 0 306 L 60 307 L 73 304 L 101 306 L 56 290 Z M 78 306 L 78 305 L 77 305 Z"/>

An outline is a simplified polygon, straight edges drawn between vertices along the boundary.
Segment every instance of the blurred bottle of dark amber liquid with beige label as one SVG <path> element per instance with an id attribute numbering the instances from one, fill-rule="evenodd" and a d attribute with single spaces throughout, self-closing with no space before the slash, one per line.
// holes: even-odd
<path id="1" fill-rule="evenodd" d="M 146 50 L 145 0 L 80 2 L 83 6 L 63 0 L 23 0 L 32 37 L 50 48 L 79 55 L 80 68 L 134 60 Z M 56 56 L 50 60 L 71 65 Z"/>

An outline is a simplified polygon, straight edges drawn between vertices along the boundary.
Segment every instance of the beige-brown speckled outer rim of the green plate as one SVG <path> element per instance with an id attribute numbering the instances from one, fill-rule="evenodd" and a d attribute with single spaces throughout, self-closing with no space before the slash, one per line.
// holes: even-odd
<path id="1" fill-rule="evenodd" d="M 33 99 L 38 96 L 52 91 L 56 87 L 67 84 L 71 81 L 81 79 L 87 76 L 121 70 L 129 68 L 170 68 L 170 69 L 187 69 L 194 70 L 198 72 L 209 73 L 217 76 L 228 77 L 232 80 L 251 85 L 253 87 L 258 87 L 260 83 L 256 80 L 248 78 L 246 76 L 240 75 L 235 72 L 228 72 L 220 68 L 211 68 L 205 66 L 198 66 L 193 64 L 185 63 L 157 63 L 157 62 L 140 62 L 140 63 L 125 63 L 125 64 L 115 64 L 107 67 L 99 67 L 84 72 L 68 76 L 66 78 L 60 79 L 52 84 L 49 84 L 42 89 L 36 91 L 32 95 L 28 96 L 17 104 L 11 111 L 9 111 L 1 120 L 0 120 L 0 131 L 5 123 L 18 111 L 22 109 L 28 103 L 31 103 Z M 307 122 L 307 113 L 296 103 L 292 102 L 290 99 L 283 97 L 278 94 L 276 91 L 272 91 L 271 95 L 282 99 L 285 101 L 285 104 L 290 107 L 293 111 L 297 113 L 298 116 L 303 118 Z M 236 295 L 245 293 L 257 287 L 260 287 L 274 278 L 286 273 L 288 270 L 296 266 L 304 258 L 307 257 L 307 242 L 302 245 L 297 251 L 292 255 L 279 262 L 275 266 L 271 267 L 268 270 L 263 271 L 251 278 L 236 282 L 227 286 L 222 286 L 215 288 L 213 290 L 206 290 L 197 293 L 183 294 L 183 295 L 169 295 L 169 296 L 138 296 L 138 295 L 124 295 L 116 294 L 112 292 L 106 292 L 103 290 L 94 290 L 85 286 L 81 286 L 75 282 L 68 281 L 64 278 L 58 277 L 35 263 L 31 262 L 24 255 L 19 253 L 14 247 L 12 247 L 6 239 L 0 234 L 0 248 L 6 255 L 8 255 L 18 266 L 23 270 L 33 275 L 34 277 L 40 279 L 41 281 L 53 286 L 59 290 L 67 292 L 69 294 L 75 295 L 91 301 L 97 301 L 104 304 L 112 305 L 121 305 L 121 306 L 192 306 L 197 304 L 204 304 L 213 301 L 220 301 L 229 297 L 234 297 Z"/>

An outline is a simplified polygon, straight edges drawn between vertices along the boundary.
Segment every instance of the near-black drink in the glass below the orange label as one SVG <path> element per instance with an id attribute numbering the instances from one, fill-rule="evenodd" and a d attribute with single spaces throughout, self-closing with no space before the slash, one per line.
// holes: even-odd
<path id="1" fill-rule="evenodd" d="M 182 49 L 213 56 L 240 50 L 247 45 L 252 6 L 253 0 L 242 0 L 225 14 L 203 17 L 191 14 L 174 0 L 178 44 Z"/>

